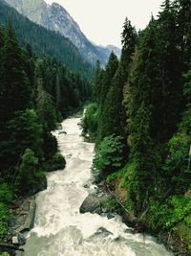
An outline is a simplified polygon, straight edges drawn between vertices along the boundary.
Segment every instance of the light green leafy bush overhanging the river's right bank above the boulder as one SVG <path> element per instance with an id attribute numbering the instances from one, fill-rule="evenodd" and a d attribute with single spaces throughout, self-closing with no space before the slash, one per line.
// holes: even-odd
<path id="1" fill-rule="evenodd" d="M 122 137 L 115 135 L 105 137 L 97 146 L 93 168 L 109 173 L 119 169 L 124 161 L 124 148 Z"/>

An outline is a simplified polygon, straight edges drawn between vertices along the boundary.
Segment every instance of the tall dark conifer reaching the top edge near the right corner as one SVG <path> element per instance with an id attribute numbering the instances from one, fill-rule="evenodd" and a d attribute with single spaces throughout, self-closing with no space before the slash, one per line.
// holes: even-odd
<path id="1" fill-rule="evenodd" d="M 182 99 L 182 51 L 181 38 L 177 36 L 176 14 L 170 1 L 163 4 L 163 11 L 159 13 L 158 43 L 160 60 L 160 116 L 158 129 L 159 140 L 166 141 L 176 131 L 176 124 L 180 122 Z M 156 112 L 155 116 L 159 116 Z"/>

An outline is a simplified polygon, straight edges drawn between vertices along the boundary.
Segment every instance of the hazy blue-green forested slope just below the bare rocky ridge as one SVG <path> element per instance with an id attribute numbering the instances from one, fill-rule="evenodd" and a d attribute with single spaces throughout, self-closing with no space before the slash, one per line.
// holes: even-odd
<path id="1" fill-rule="evenodd" d="M 14 0 L 15 6 L 19 6 L 21 2 L 22 0 Z M 33 0 L 33 2 L 37 1 Z M 68 38 L 33 23 L 5 1 L 0 0 L 0 24 L 7 24 L 9 19 L 21 45 L 25 46 L 29 42 L 36 54 L 50 55 L 59 59 L 67 70 L 85 77 L 93 74 L 92 65 L 81 56 Z"/>

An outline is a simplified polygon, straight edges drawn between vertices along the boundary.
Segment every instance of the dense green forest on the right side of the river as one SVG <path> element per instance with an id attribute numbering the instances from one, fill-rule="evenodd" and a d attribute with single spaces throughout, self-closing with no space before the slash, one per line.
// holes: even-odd
<path id="1" fill-rule="evenodd" d="M 126 19 L 121 58 L 112 53 L 105 69 L 97 61 L 94 99 L 82 121 L 96 141 L 93 171 L 123 192 L 129 219 L 141 230 L 177 232 L 188 249 L 190 20 L 190 0 L 165 0 L 140 32 Z"/>

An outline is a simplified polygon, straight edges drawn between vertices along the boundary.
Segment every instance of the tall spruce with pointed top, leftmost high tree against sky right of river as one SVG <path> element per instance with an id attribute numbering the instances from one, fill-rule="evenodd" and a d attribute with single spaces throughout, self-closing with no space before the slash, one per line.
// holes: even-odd
<path id="1" fill-rule="evenodd" d="M 135 52 L 137 33 L 131 22 L 126 18 L 122 32 L 122 52 L 117 72 L 112 80 L 109 92 L 102 109 L 102 115 L 106 120 L 103 135 L 125 136 L 125 108 L 123 102 L 123 89 L 128 79 L 129 67 Z"/>

